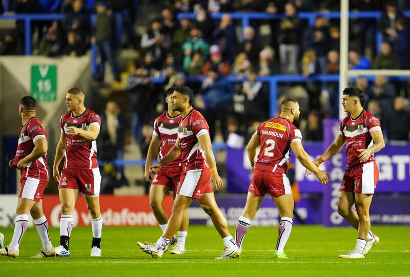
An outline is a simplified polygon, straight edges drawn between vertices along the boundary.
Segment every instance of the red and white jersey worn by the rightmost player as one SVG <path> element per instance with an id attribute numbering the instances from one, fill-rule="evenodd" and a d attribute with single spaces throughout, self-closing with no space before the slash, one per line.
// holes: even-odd
<path id="1" fill-rule="evenodd" d="M 370 132 L 380 130 L 380 120 L 371 113 L 363 110 L 360 115 L 352 119 L 351 115 L 340 122 L 339 134 L 346 139 L 347 168 L 360 164 L 358 149 L 366 149 L 373 145 Z M 373 154 L 364 163 L 374 161 Z"/>

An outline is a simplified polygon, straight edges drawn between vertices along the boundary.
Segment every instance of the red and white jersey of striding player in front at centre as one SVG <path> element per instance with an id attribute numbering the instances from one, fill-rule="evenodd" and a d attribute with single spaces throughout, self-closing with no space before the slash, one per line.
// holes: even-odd
<path id="1" fill-rule="evenodd" d="M 196 110 L 182 118 L 178 127 L 179 147 L 184 171 L 209 167 L 205 152 L 198 142 L 198 137 L 209 134 L 209 126 L 205 118 Z"/>

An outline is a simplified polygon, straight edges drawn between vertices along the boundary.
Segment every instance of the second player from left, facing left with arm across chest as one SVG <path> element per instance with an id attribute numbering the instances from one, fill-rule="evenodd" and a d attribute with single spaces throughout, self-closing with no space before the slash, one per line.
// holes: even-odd
<path id="1" fill-rule="evenodd" d="M 99 208 L 99 188 L 101 175 L 97 164 L 96 138 L 101 120 L 99 116 L 84 106 L 85 93 L 79 88 L 70 89 L 66 95 L 68 112 L 61 116 L 61 135 L 57 144 L 53 176 L 59 182 L 58 194 L 61 202 L 60 246 L 57 255 L 70 257 L 69 240 L 73 228 L 73 211 L 78 191 L 86 196 L 91 214 L 93 241 L 91 256 L 101 256 L 101 230 L 103 216 Z M 61 176 L 58 165 L 64 160 Z"/>

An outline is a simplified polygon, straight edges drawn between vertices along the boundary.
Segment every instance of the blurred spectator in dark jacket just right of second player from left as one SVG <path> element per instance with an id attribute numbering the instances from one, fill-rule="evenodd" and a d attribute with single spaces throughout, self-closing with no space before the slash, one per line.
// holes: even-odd
<path id="1" fill-rule="evenodd" d="M 100 147 L 103 152 L 109 149 L 114 159 L 124 158 L 125 135 L 130 129 L 130 124 L 124 113 L 114 101 L 109 101 L 106 110 L 101 114 L 100 141 L 104 147 Z M 124 167 L 118 166 L 121 179 L 125 179 Z"/>

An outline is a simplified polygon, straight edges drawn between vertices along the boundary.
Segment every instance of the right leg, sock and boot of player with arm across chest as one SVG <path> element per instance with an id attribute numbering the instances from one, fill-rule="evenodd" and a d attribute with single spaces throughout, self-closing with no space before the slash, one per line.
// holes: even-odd
<path id="1" fill-rule="evenodd" d="M 103 216 L 99 207 L 99 196 L 86 195 L 87 208 L 91 215 L 91 229 L 93 241 L 91 243 L 91 256 L 101 256 L 101 233 L 103 232 Z"/>

